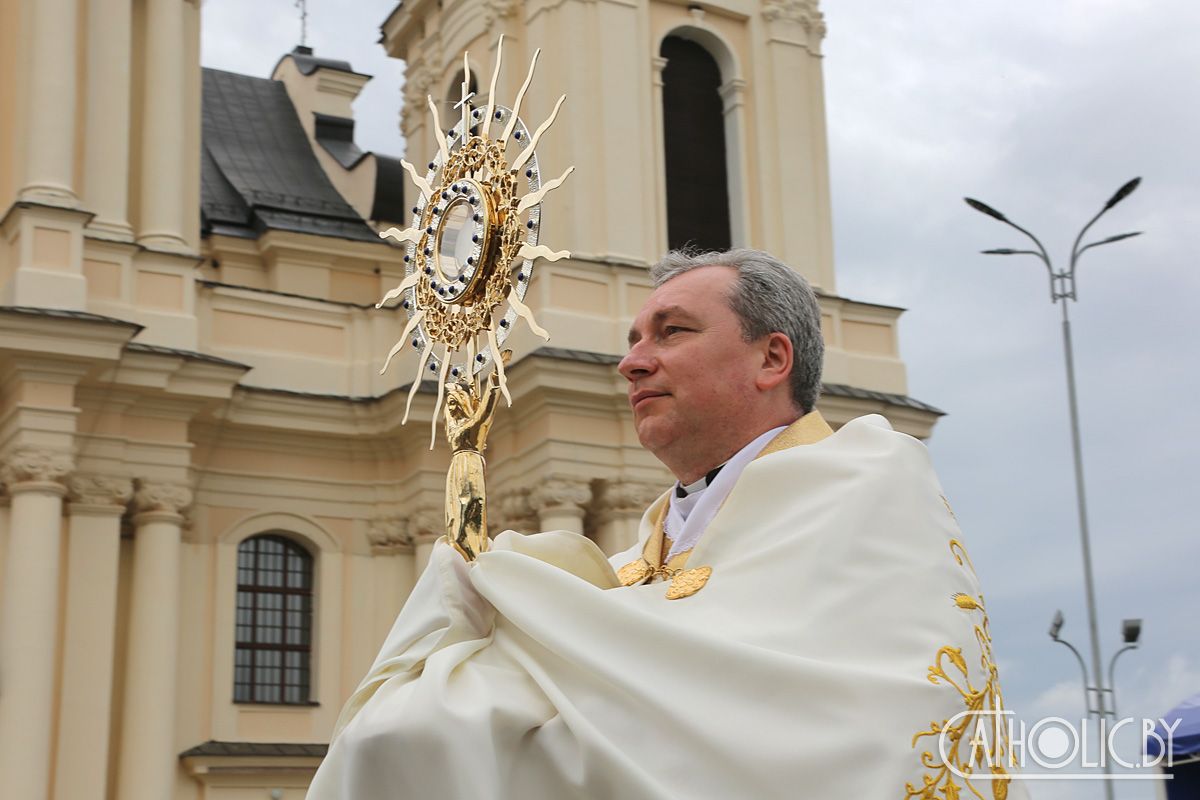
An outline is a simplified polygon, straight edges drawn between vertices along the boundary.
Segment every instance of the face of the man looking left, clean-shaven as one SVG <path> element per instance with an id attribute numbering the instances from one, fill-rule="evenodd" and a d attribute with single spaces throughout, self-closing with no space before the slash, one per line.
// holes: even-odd
<path id="1" fill-rule="evenodd" d="M 736 279 L 731 267 L 702 266 L 660 285 L 634 320 L 618 367 L 637 438 L 680 480 L 737 452 L 754 438 L 748 422 L 762 416 L 762 348 L 744 339 L 730 308 Z M 713 459 L 721 461 L 706 465 Z"/>

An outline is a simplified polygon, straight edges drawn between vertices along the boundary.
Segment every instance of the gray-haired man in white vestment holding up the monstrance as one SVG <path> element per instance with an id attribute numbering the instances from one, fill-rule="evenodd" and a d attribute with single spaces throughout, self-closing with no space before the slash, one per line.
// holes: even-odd
<path id="1" fill-rule="evenodd" d="M 637 546 L 439 543 L 310 799 L 1006 796 L 983 601 L 924 447 L 824 423 L 816 299 L 772 257 L 652 276 L 619 369 L 678 481 Z"/>

